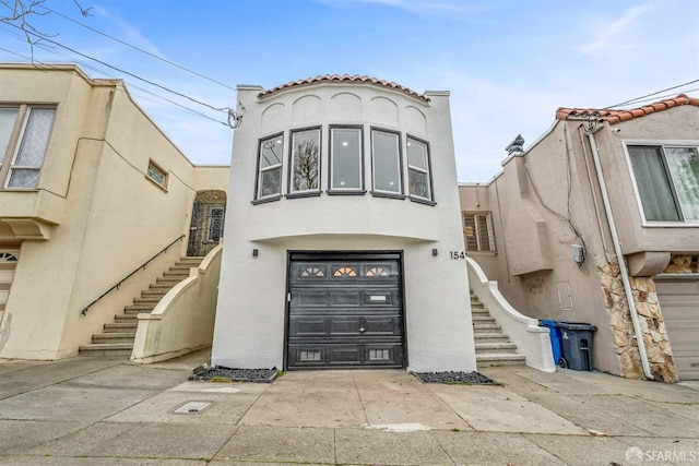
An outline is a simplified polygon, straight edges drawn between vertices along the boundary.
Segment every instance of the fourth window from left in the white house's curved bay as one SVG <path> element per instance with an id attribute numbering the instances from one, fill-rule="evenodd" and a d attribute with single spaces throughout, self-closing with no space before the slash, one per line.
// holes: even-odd
<path id="1" fill-rule="evenodd" d="M 371 130 L 374 193 L 403 194 L 400 139 L 400 133 Z"/>

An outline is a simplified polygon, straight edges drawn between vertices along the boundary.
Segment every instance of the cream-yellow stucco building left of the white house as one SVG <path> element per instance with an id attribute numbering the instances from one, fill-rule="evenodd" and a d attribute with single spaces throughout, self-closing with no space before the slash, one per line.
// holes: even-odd
<path id="1" fill-rule="evenodd" d="M 187 240 L 192 207 L 225 206 L 229 168 L 192 165 L 120 80 L 26 63 L 0 83 L 0 357 L 74 356 L 188 246 L 211 249 Z"/>

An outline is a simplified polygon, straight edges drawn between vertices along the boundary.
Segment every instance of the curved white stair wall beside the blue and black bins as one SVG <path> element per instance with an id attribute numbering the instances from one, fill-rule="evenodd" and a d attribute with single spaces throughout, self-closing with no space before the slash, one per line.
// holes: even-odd
<path id="1" fill-rule="evenodd" d="M 509 335 L 510 342 L 517 345 L 520 354 L 526 357 L 526 366 L 544 372 L 556 372 L 548 328 L 538 326 L 536 319 L 519 313 L 500 294 L 498 283 L 488 280 L 476 261 L 466 258 L 466 263 L 473 292 Z"/>

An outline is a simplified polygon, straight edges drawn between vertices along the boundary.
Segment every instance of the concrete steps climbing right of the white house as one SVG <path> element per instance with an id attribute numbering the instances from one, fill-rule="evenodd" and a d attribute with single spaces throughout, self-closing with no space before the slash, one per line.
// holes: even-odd
<path id="1" fill-rule="evenodd" d="M 524 366 L 526 358 L 517 351 L 507 334 L 496 322 L 478 298 L 471 292 L 471 318 L 476 346 L 476 365 L 479 368 L 494 366 Z"/>

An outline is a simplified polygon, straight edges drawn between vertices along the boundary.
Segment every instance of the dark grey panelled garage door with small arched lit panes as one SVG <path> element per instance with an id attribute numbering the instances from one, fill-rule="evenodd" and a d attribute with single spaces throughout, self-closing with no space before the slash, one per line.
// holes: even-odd
<path id="1" fill-rule="evenodd" d="M 402 368 L 400 253 L 292 253 L 287 369 Z"/>

